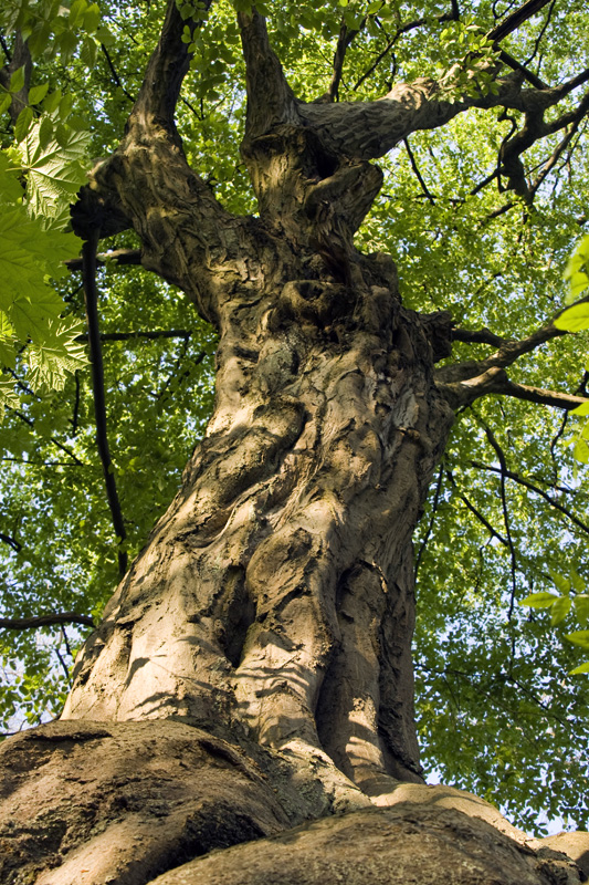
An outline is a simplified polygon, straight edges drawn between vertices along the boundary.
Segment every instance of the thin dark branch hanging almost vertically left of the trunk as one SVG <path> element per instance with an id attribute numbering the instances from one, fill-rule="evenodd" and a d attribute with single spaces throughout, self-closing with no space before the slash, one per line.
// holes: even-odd
<path id="1" fill-rule="evenodd" d="M 104 392 L 104 365 L 101 347 L 101 335 L 98 329 L 98 292 L 96 289 L 96 244 L 98 232 L 94 233 L 93 239 L 87 240 L 82 247 L 84 268 L 82 271 L 84 279 L 84 300 L 86 302 L 86 316 L 88 321 L 88 342 L 90 362 L 92 367 L 92 386 L 94 393 L 94 418 L 96 424 L 96 445 L 103 466 L 104 481 L 106 486 L 106 498 L 111 509 L 113 527 L 117 535 L 118 546 L 118 572 L 120 577 L 127 571 L 127 553 L 122 549 L 123 542 L 127 538 L 120 501 L 116 487 L 116 479 L 111 451 L 108 448 L 108 435 L 106 433 L 106 397 Z"/>

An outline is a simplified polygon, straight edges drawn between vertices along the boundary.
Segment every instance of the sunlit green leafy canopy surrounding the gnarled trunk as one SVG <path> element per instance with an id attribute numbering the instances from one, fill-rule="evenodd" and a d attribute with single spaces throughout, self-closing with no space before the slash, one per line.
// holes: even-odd
<path id="1" fill-rule="evenodd" d="M 177 125 L 188 162 L 229 211 L 253 214 L 235 19 L 250 4 L 179 8 L 187 22 L 203 15 L 183 38 L 192 61 Z M 406 306 L 450 312 L 444 382 L 488 373 L 496 394 L 457 409 L 416 542 L 423 761 L 527 829 L 541 830 L 541 810 L 586 827 L 588 695 L 586 677 L 567 676 L 579 662 L 562 642 L 583 624 L 572 607 L 547 633 L 545 614 L 518 604 L 554 592 L 559 576 L 575 575 L 579 594 L 589 581 L 587 466 L 571 446 L 582 423 L 567 417 L 587 396 L 586 342 L 551 322 L 589 217 L 585 3 L 269 0 L 257 10 L 309 119 L 399 84 L 423 102 L 435 95 L 434 125 L 398 143 L 375 125 L 372 153 L 367 137 L 385 183 L 356 237 L 362 251 L 392 256 Z M 165 11 L 161 0 L 99 10 L 14 0 L 0 13 L 4 731 L 59 714 L 76 646 L 212 408 L 214 332 L 140 266 L 129 231 L 101 241 L 88 315 L 104 367 L 91 374 L 81 242 L 65 229 L 91 158 L 123 136 Z M 469 371 L 456 375 L 456 363 Z M 96 445 L 105 431 L 107 464 Z M 22 623 L 48 614 L 63 617 Z"/>

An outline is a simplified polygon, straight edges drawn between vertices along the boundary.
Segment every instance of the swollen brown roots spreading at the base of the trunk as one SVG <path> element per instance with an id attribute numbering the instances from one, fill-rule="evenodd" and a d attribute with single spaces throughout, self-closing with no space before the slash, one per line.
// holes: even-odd
<path id="1" fill-rule="evenodd" d="M 529 840 L 469 793 L 389 784 L 385 808 L 357 791 L 334 816 L 312 766 L 181 722 L 41 726 L 2 745 L 0 772 L 2 885 L 583 881 L 558 837 Z"/>

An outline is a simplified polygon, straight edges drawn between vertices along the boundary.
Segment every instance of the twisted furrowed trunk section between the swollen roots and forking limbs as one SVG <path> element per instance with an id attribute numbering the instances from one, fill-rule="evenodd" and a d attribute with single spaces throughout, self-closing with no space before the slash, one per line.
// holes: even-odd
<path id="1" fill-rule="evenodd" d="M 383 256 L 350 254 L 340 282 L 254 241 L 219 300 L 206 437 L 63 716 L 223 722 L 359 784 L 419 780 L 411 535 L 451 423 L 428 326 Z"/>

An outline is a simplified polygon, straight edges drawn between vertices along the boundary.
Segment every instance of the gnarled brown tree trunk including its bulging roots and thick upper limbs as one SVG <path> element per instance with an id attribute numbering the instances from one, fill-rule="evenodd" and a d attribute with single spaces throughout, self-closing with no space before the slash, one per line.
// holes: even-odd
<path id="1" fill-rule="evenodd" d="M 390 258 L 354 235 L 381 184 L 368 158 L 467 104 L 423 81 L 303 105 L 263 20 L 240 23 L 260 217 L 231 216 L 186 163 L 175 2 L 74 211 L 87 239 L 133 227 L 143 266 L 217 326 L 217 398 L 62 721 L 2 747 L 2 882 L 572 885 L 570 862 L 419 766 L 411 538 L 451 405 L 496 383 L 474 389 L 478 364 L 437 381 L 450 317 L 406 310 Z M 523 107 L 519 86 L 488 102 Z"/>

